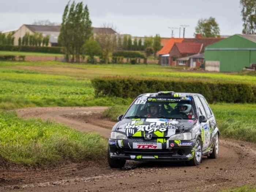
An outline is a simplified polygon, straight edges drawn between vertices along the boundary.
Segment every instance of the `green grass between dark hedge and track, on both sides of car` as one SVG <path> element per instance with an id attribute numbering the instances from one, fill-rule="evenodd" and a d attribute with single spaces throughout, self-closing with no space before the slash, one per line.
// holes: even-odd
<path id="1" fill-rule="evenodd" d="M 124 114 L 128 105 L 113 106 L 103 113 L 103 116 L 116 121 Z M 256 143 L 256 104 L 227 104 L 211 105 L 217 119 L 221 136 Z"/>

